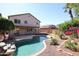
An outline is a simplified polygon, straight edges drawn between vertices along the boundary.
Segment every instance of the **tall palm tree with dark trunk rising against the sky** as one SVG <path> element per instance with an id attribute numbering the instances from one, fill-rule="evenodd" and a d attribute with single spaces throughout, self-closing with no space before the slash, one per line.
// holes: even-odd
<path id="1" fill-rule="evenodd" d="M 79 16 L 79 3 L 67 3 L 65 5 L 65 12 L 68 12 L 73 20 L 73 14 Z"/>

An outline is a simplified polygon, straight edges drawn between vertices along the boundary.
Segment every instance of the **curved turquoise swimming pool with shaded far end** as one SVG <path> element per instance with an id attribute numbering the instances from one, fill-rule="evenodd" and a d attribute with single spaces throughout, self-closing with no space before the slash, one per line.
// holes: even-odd
<path id="1" fill-rule="evenodd" d="M 44 48 L 43 40 L 46 37 L 33 38 L 32 41 L 21 41 L 17 44 L 16 56 L 31 56 Z"/>

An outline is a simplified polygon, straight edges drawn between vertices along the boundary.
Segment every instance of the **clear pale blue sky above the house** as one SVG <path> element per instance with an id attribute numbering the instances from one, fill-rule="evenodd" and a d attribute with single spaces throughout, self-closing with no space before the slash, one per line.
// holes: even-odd
<path id="1" fill-rule="evenodd" d="M 64 12 L 64 6 L 64 3 L 0 3 L 0 13 L 4 17 L 20 13 L 31 13 L 41 21 L 41 25 L 57 25 L 70 20 L 69 14 Z"/>

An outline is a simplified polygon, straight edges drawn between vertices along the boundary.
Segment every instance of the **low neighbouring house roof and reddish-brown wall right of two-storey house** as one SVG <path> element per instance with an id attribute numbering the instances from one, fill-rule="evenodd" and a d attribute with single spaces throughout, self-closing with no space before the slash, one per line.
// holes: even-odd
<path id="1" fill-rule="evenodd" d="M 56 29 L 55 25 L 45 25 L 40 27 L 40 32 L 50 34 L 52 32 L 54 33 Z"/>

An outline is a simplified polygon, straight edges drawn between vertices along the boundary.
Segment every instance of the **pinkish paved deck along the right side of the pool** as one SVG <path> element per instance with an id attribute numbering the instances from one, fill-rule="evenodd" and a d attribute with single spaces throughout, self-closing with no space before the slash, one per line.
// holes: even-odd
<path id="1" fill-rule="evenodd" d="M 65 40 L 60 40 L 60 45 L 53 46 L 46 41 L 46 49 L 38 56 L 79 56 L 79 52 L 73 52 L 67 48 L 64 48 Z M 59 49 L 59 50 L 58 50 Z"/>

